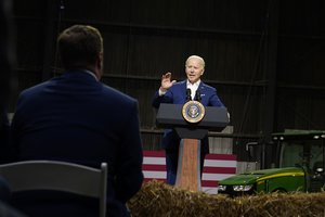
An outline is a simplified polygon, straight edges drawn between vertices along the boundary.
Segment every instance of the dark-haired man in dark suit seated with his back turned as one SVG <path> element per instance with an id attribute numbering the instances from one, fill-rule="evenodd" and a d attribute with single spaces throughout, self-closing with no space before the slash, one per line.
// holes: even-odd
<path id="1" fill-rule="evenodd" d="M 107 215 L 128 216 L 126 203 L 143 181 L 138 101 L 100 82 L 103 39 L 96 28 L 72 26 L 58 36 L 57 46 L 65 73 L 20 94 L 12 122 L 17 159 L 92 167 L 107 162 Z M 51 203 L 40 216 L 95 216 L 86 210 L 90 203 L 74 210 Z"/>

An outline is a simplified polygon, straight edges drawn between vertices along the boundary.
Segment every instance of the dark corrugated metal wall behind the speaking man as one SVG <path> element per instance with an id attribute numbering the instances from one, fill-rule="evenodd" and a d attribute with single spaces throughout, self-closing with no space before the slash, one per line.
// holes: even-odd
<path id="1" fill-rule="evenodd" d="M 274 131 L 325 129 L 322 0 L 16 0 L 14 9 L 18 90 L 62 72 L 55 54 L 62 29 L 93 25 L 104 37 L 103 81 L 139 100 L 145 149 L 159 149 L 151 100 L 160 76 L 184 79 L 191 54 L 206 60 L 203 79 L 231 113 L 238 159 L 246 158 L 245 142 L 264 135 L 270 111 Z M 274 110 L 266 97 L 270 65 L 276 71 Z"/>

